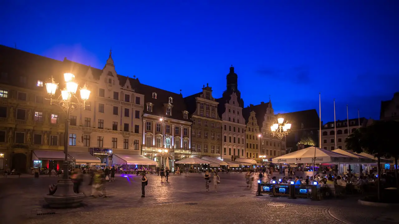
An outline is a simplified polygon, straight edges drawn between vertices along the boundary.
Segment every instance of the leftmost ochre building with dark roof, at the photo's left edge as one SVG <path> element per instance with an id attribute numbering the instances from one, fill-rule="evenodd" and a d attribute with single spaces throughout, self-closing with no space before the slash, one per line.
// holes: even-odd
<path id="1" fill-rule="evenodd" d="M 29 172 L 34 150 L 63 150 L 63 111 L 43 85 L 62 77 L 61 62 L 0 45 L 0 169 Z M 60 161 L 38 161 L 57 168 Z"/>

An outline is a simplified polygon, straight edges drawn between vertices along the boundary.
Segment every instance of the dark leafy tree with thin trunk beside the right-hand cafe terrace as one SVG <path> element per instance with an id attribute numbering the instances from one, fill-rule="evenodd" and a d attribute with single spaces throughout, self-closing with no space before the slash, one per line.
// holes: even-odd
<path id="1" fill-rule="evenodd" d="M 388 149 L 395 147 L 391 124 L 377 121 L 365 128 L 358 128 L 345 140 L 346 149 L 356 153 L 366 152 L 377 157 L 377 196 L 381 200 L 381 157 L 389 155 Z M 394 131 L 394 130 L 392 130 Z"/>

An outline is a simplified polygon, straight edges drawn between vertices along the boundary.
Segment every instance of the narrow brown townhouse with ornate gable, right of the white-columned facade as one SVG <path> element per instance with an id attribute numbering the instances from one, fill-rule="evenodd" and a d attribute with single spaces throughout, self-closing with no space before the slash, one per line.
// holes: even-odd
<path id="1" fill-rule="evenodd" d="M 212 88 L 206 84 L 202 92 L 184 98 L 192 120 L 191 154 L 193 156 L 211 156 L 220 158 L 221 119 L 217 113 Z"/>

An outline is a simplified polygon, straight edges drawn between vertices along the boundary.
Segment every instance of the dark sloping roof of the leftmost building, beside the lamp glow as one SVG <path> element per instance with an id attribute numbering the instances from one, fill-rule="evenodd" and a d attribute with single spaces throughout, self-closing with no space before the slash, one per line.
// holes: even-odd
<path id="1" fill-rule="evenodd" d="M 51 76 L 64 73 L 62 61 L 0 45 L 0 74 L 7 73 L 8 80 L 0 80 L 22 88 L 37 90 L 37 81 L 47 81 Z M 26 77 L 26 84 L 19 77 Z"/>

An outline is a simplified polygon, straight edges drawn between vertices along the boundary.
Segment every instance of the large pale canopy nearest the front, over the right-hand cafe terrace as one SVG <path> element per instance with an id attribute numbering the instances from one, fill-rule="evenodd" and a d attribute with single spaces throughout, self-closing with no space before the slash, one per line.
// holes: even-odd
<path id="1" fill-rule="evenodd" d="M 354 157 L 348 157 L 318 147 L 308 147 L 273 158 L 273 163 L 350 163 L 354 160 Z"/>

